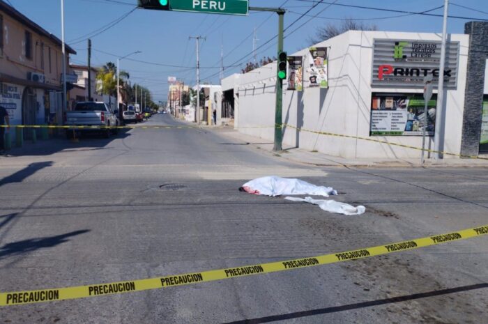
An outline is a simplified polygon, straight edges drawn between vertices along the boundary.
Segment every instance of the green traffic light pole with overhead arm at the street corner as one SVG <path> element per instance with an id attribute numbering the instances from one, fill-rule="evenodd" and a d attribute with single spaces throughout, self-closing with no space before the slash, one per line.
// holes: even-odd
<path id="1" fill-rule="evenodd" d="M 278 14 L 278 55 L 283 52 L 283 29 L 284 29 L 284 9 L 282 8 L 260 8 L 249 7 L 249 10 L 254 11 L 270 11 Z M 277 60 L 277 64 L 280 60 Z M 277 68 L 278 71 L 278 68 Z M 276 71 L 276 72 L 277 72 Z M 273 151 L 282 151 L 283 142 L 283 126 L 282 126 L 282 111 L 283 111 L 283 80 L 276 77 L 276 106 L 275 106 L 275 145 Z"/>

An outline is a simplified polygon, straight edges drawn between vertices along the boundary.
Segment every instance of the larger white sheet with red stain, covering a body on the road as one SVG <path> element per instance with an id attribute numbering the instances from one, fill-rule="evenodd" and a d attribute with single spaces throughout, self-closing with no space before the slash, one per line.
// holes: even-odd
<path id="1" fill-rule="evenodd" d="M 278 176 L 265 176 L 250 180 L 242 186 L 242 190 L 250 194 L 264 196 L 281 196 L 282 194 L 311 194 L 312 196 L 337 195 L 331 187 L 312 185 L 299 179 L 280 178 Z"/>

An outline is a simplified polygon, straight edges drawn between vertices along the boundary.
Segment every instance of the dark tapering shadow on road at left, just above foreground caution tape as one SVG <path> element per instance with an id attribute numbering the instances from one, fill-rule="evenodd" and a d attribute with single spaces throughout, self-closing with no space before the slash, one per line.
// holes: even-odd
<path id="1" fill-rule="evenodd" d="M 18 254 L 24 254 L 33 252 L 38 249 L 44 249 L 46 247 L 55 247 L 61 243 L 68 242 L 68 238 L 71 236 L 77 236 L 89 232 L 89 229 L 83 229 L 74 231 L 58 236 L 49 236 L 47 238 L 31 238 L 29 240 L 22 240 L 18 242 L 8 243 L 0 248 L 0 259 L 6 256 L 15 256 Z"/>

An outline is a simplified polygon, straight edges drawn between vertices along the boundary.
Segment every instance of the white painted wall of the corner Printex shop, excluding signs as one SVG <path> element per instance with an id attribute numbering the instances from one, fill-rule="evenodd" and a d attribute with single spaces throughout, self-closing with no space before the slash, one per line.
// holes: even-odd
<path id="1" fill-rule="evenodd" d="M 369 137 L 369 119 L 372 92 L 421 93 L 421 90 L 372 88 L 372 54 L 374 38 L 441 40 L 434 33 L 399 33 L 384 31 L 349 31 L 318 44 L 329 48 L 329 88 L 307 88 L 305 91 L 284 91 L 283 123 L 302 126 L 303 129 L 347 134 L 387 141 L 388 143 L 422 146 L 422 137 Z M 464 88 L 468 53 L 468 36 L 452 35 L 460 42 L 459 71 L 456 90 L 445 91 L 445 151 L 459 153 L 461 146 Z M 307 55 L 308 49 L 291 54 Z M 305 59 L 307 62 L 307 59 Z M 275 120 L 276 63 L 222 80 L 222 89 L 234 84 L 238 88 L 236 128 L 240 132 L 273 140 Z M 284 88 L 287 84 L 284 82 Z M 435 93 L 436 91 L 434 91 Z M 266 126 L 267 128 L 264 128 Z M 379 144 L 360 139 L 330 137 L 291 128 L 284 130 L 284 143 L 307 150 L 317 150 L 342 157 L 416 158 L 420 151 L 390 144 Z M 431 142 L 432 144 L 432 142 Z M 446 156 L 448 157 L 448 156 Z"/>

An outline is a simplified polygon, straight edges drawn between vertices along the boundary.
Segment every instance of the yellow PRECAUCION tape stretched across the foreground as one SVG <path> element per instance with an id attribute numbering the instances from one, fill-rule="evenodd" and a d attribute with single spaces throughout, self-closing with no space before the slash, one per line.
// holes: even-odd
<path id="1" fill-rule="evenodd" d="M 243 265 L 235 268 L 210 270 L 204 272 L 192 272 L 183 275 L 170 275 L 150 279 L 139 279 L 132 281 L 118 281 L 106 284 L 93 284 L 89 286 L 76 286 L 68 288 L 51 288 L 35 291 L 16 291 L 0 293 L 0 306 L 19 304 L 32 304 L 38 302 L 52 302 L 56 300 L 72 300 L 77 298 L 96 297 L 101 295 L 114 295 L 129 293 L 132 291 L 146 291 L 148 289 L 167 288 L 171 286 L 184 286 L 200 284 L 202 282 L 261 275 L 264 273 L 308 268 L 315 265 L 324 265 L 343 261 L 364 259 L 370 256 L 379 256 L 394 252 L 418 249 L 431 245 L 439 245 L 466 238 L 475 238 L 488 234 L 488 225 L 474 229 L 465 229 L 453 233 L 445 233 L 427 238 L 418 238 L 404 242 L 396 242 L 366 249 L 312 256 L 303 259 L 261 263 L 257 265 Z"/>

